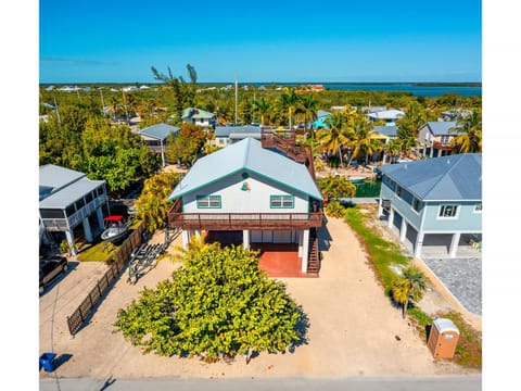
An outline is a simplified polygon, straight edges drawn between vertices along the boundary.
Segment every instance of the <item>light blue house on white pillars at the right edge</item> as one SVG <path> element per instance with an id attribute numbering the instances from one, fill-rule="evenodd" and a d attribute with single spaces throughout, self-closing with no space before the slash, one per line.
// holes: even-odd
<path id="1" fill-rule="evenodd" d="M 380 171 L 379 216 L 389 218 L 391 230 L 415 256 L 475 253 L 469 243 L 481 243 L 481 153 L 391 164 Z"/>

